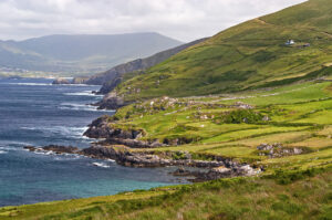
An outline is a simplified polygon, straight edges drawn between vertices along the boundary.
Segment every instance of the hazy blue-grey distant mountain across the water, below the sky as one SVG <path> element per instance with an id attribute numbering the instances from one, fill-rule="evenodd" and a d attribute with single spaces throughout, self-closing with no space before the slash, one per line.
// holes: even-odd
<path id="1" fill-rule="evenodd" d="M 48 35 L 0 42 L 0 66 L 91 73 L 180 45 L 158 33 Z"/>

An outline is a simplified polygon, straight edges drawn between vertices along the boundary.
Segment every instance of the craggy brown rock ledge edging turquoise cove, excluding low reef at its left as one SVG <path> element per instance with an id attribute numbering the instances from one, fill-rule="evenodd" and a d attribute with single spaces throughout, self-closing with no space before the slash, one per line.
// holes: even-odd
<path id="1" fill-rule="evenodd" d="M 92 146 L 90 148 L 83 149 L 82 154 L 94 158 L 114 159 L 117 164 L 126 167 L 178 166 L 180 168 L 173 172 L 173 175 L 195 177 L 195 179 L 191 180 L 195 182 L 238 176 L 255 176 L 262 171 L 260 168 L 256 169 L 250 165 L 242 165 L 231 161 L 230 159 L 212 161 L 193 159 L 175 160 L 172 158 L 164 158 L 159 155 L 155 155 L 148 151 L 133 153 L 127 147 L 114 148 L 111 146 Z M 204 168 L 205 170 L 190 171 L 186 170 L 184 167 Z"/>

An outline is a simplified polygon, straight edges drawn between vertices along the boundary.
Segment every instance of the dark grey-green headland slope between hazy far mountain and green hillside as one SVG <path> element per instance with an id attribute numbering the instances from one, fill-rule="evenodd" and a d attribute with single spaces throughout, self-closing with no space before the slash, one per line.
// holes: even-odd
<path id="1" fill-rule="evenodd" d="M 137 60 L 131 61 L 128 63 L 117 65 L 104 73 L 100 73 L 100 74 L 91 76 L 85 83 L 94 84 L 94 85 L 103 85 L 104 84 L 101 92 L 108 93 L 110 91 L 115 88 L 123 81 L 123 77 L 125 74 L 126 74 L 125 77 L 129 77 L 128 73 L 145 71 L 145 70 L 167 60 L 172 55 L 174 55 L 191 45 L 200 43 L 205 40 L 207 40 L 207 39 L 200 39 L 200 40 L 197 40 L 197 41 L 194 41 L 190 43 L 186 43 L 186 44 L 176 46 L 174 49 L 169 49 L 169 50 L 156 53 L 146 59 L 137 59 Z"/>

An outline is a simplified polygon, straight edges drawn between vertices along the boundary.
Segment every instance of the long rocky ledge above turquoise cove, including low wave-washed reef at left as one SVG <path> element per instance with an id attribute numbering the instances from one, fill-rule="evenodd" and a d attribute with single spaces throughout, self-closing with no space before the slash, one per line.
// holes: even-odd
<path id="1" fill-rule="evenodd" d="M 29 151 L 53 154 L 76 154 L 96 159 L 112 159 L 125 167 L 179 167 L 173 175 L 194 177 L 193 181 L 207 181 L 226 177 L 253 176 L 260 174 L 261 168 L 253 168 L 247 164 L 239 164 L 227 158 L 216 158 L 215 160 L 195 160 L 187 154 L 187 158 L 174 159 L 173 153 L 155 154 L 153 151 L 133 151 L 125 146 L 102 146 L 92 145 L 89 148 L 79 149 L 72 146 L 50 145 L 45 147 L 27 146 Z M 205 171 L 189 171 L 185 167 L 204 168 Z"/>

